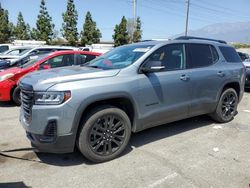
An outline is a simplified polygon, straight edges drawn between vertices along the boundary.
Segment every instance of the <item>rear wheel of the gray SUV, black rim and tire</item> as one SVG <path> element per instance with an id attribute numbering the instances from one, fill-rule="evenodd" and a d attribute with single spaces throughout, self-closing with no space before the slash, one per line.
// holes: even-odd
<path id="1" fill-rule="evenodd" d="M 237 113 L 238 101 L 236 91 L 233 88 L 226 88 L 220 96 L 215 112 L 210 114 L 210 116 L 219 123 L 233 120 Z"/>

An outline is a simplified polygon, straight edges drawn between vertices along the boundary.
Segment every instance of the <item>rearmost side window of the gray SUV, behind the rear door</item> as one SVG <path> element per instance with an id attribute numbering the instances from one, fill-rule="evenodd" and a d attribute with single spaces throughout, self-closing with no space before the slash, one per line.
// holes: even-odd
<path id="1" fill-rule="evenodd" d="M 236 50 L 232 47 L 227 47 L 227 46 L 220 46 L 220 51 L 223 55 L 223 57 L 226 59 L 227 62 L 241 62 L 240 56 L 236 52 Z"/>

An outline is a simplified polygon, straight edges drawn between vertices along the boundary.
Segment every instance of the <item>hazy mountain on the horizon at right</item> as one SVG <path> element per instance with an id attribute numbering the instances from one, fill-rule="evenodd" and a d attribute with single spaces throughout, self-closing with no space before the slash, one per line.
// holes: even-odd
<path id="1" fill-rule="evenodd" d="M 181 35 L 184 33 L 173 38 Z M 227 42 L 250 43 L 250 21 L 212 24 L 198 30 L 189 30 L 188 35 L 220 39 Z"/>

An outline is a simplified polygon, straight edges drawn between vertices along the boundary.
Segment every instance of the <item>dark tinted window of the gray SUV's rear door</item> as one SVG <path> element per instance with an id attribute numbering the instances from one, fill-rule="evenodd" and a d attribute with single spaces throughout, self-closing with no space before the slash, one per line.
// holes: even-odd
<path id="1" fill-rule="evenodd" d="M 189 44 L 189 65 L 188 68 L 198 68 L 212 65 L 218 60 L 216 49 L 207 44 Z"/>

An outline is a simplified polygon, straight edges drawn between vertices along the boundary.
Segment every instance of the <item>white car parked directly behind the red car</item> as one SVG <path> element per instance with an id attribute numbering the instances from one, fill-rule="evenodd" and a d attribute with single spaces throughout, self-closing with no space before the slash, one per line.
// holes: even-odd
<path id="1" fill-rule="evenodd" d="M 40 54 L 46 54 L 53 51 L 60 51 L 60 50 L 76 50 L 77 48 L 74 47 L 61 47 L 61 46 L 41 46 L 41 47 L 35 47 L 28 51 L 23 51 L 19 55 L 2 55 L 0 59 L 1 67 L 10 68 L 13 66 L 16 66 L 18 64 L 18 61 L 23 58 L 27 58 L 29 56 L 35 56 Z M 1 69 L 1 68 L 0 68 Z"/>

